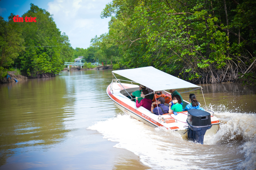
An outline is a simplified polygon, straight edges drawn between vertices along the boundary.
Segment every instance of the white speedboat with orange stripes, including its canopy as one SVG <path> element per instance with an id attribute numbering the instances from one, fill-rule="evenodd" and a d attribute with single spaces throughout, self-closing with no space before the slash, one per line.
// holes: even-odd
<path id="1" fill-rule="evenodd" d="M 193 128 L 202 129 L 207 127 L 206 134 L 208 135 L 216 134 L 216 132 L 219 130 L 219 119 L 216 116 L 214 116 L 214 113 L 210 110 L 206 110 L 207 113 L 202 110 L 199 110 L 204 113 L 196 113 L 197 115 L 195 115 L 197 109 L 191 109 L 194 110 L 193 112 L 189 112 L 189 110 L 177 112 L 177 115 L 156 115 L 154 113 L 151 113 L 144 107 L 137 108 L 136 103 L 134 102 L 132 96 L 130 96 L 132 92 L 139 90 L 139 85 L 137 84 L 144 85 L 147 88 L 153 90 L 154 92 L 161 91 L 162 94 L 168 96 L 171 96 L 171 93 L 166 91 L 169 89 L 193 88 L 192 90 L 202 90 L 201 86 L 189 83 L 185 80 L 182 80 L 180 78 L 162 72 L 158 69 L 155 69 L 154 67 L 117 70 L 112 71 L 112 74 L 113 79 L 106 90 L 109 98 L 124 113 L 129 114 L 133 118 L 145 123 L 146 125 L 155 128 L 165 127 L 167 129 L 174 130 L 175 132 L 178 132 L 184 139 L 191 138 L 191 132 L 189 130 Z M 118 74 L 128 80 L 117 79 L 115 74 Z M 192 90 L 189 90 L 187 92 L 191 92 Z M 168 104 L 169 103 L 165 103 L 165 105 Z M 183 99 L 183 108 L 185 108 L 187 104 L 189 104 L 189 102 Z M 202 114 L 203 116 L 200 117 L 200 115 Z M 202 122 L 202 126 L 198 126 L 198 122 L 196 122 L 198 120 L 198 115 L 200 117 L 200 121 L 205 121 L 207 119 L 206 123 L 208 124 L 206 125 L 205 122 Z M 193 125 L 193 121 L 196 123 L 195 125 Z M 211 125 L 209 125 L 209 123 Z M 196 133 L 194 132 L 194 136 L 195 134 Z M 200 134 L 198 135 L 200 136 Z M 199 143 L 202 142 L 199 141 Z"/>

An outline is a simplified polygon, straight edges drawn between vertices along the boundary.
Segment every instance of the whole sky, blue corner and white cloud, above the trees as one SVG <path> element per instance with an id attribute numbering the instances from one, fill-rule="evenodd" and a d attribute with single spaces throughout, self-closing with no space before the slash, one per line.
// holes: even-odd
<path id="1" fill-rule="evenodd" d="M 61 31 L 69 36 L 71 46 L 86 49 L 91 38 L 108 33 L 110 18 L 100 18 L 106 4 L 112 0 L 0 0 L 0 16 L 4 20 L 13 13 L 20 15 L 30 9 L 30 4 L 53 14 Z"/>

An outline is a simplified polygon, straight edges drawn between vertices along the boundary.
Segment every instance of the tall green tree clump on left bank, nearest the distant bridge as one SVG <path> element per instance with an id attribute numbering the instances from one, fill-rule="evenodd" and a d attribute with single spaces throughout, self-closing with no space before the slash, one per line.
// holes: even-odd
<path id="1" fill-rule="evenodd" d="M 30 10 L 22 15 L 37 17 L 35 23 L 20 23 L 22 36 L 27 47 L 21 52 L 17 63 L 21 71 L 27 72 L 28 76 L 36 77 L 39 74 L 58 74 L 63 69 L 64 61 L 72 58 L 68 36 L 59 31 L 52 15 L 45 9 L 31 4 Z M 60 46 L 67 45 L 67 46 Z M 35 47 L 57 46 L 57 47 Z"/>

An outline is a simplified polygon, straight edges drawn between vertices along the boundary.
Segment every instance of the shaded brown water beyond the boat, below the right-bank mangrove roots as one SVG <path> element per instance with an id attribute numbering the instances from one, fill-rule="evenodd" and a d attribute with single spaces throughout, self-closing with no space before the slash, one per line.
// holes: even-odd
<path id="1" fill-rule="evenodd" d="M 242 86 L 240 83 L 201 84 L 208 109 L 213 107 L 219 111 L 256 113 L 256 87 Z M 188 89 L 177 90 L 179 92 Z M 200 104 L 206 108 L 201 90 L 182 94 L 182 98 L 189 100 L 189 94 L 194 93 Z"/>

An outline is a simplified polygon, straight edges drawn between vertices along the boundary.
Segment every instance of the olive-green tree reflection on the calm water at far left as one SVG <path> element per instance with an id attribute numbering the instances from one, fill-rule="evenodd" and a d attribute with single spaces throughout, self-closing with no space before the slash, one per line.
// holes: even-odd
<path id="1" fill-rule="evenodd" d="M 70 130 L 65 119 L 67 98 L 65 80 L 57 78 L 34 79 L 26 83 L 2 85 L 0 90 L 0 155 L 1 165 L 19 148 L 47 146 L 59 143 Z M 72 102 L 72 100 L 69 100 Z"/>

